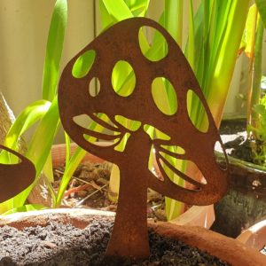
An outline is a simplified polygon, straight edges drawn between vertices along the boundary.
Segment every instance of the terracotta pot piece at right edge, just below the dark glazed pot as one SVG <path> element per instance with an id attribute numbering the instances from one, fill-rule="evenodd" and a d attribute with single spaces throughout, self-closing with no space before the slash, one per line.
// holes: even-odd
<path id="1" fill-rule="evenodd" d="M 256 223 L 237 238 L 240 242 L 260 251 L 266 246 L 266 220 Z"/>

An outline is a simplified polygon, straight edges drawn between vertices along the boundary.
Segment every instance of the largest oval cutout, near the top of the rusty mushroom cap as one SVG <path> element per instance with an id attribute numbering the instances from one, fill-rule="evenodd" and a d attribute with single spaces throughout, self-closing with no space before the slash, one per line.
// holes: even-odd
<path id="1" fill-rule="evenodd" d="M 143 55 L 150 61 L 159 61 L 168 54 L 168 43 L 165 37 L 154 27 L 140 27 L 138 43 Z"/>

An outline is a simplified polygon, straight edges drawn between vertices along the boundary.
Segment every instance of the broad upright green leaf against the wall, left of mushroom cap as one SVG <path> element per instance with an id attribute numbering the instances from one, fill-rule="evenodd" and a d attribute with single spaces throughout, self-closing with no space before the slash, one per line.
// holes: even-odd
<path id="1" fill-rule="evenodd" d="M 57 94 L 59 65 L 66 31 L 67 1 L 58 0 L 51 17 L 43 66 L 43 99 L 52 101 Z"/>

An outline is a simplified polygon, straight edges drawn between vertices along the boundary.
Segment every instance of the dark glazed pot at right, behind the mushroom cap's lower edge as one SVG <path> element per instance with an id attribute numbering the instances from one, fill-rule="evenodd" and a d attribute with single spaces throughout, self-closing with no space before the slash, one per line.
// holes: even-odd
<path id="1" fill-rule="evenodd" d="M 215 203 L 212 230 L 236 238 L 266 217 L 266 171 L 232 157 L 229 162 L 229 191 Z"/>

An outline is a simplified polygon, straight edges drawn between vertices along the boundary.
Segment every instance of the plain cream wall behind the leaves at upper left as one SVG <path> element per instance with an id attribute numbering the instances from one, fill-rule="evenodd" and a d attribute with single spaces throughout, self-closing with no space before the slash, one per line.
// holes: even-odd
<path id="1" fill-rule="evenodd" d="M 15 115 L 42 98 L 46 40 L 55 0 L 0 0 L 0 90 Z M 93 39 L 93 1 L 68 1 L 62 66 Z"/>

